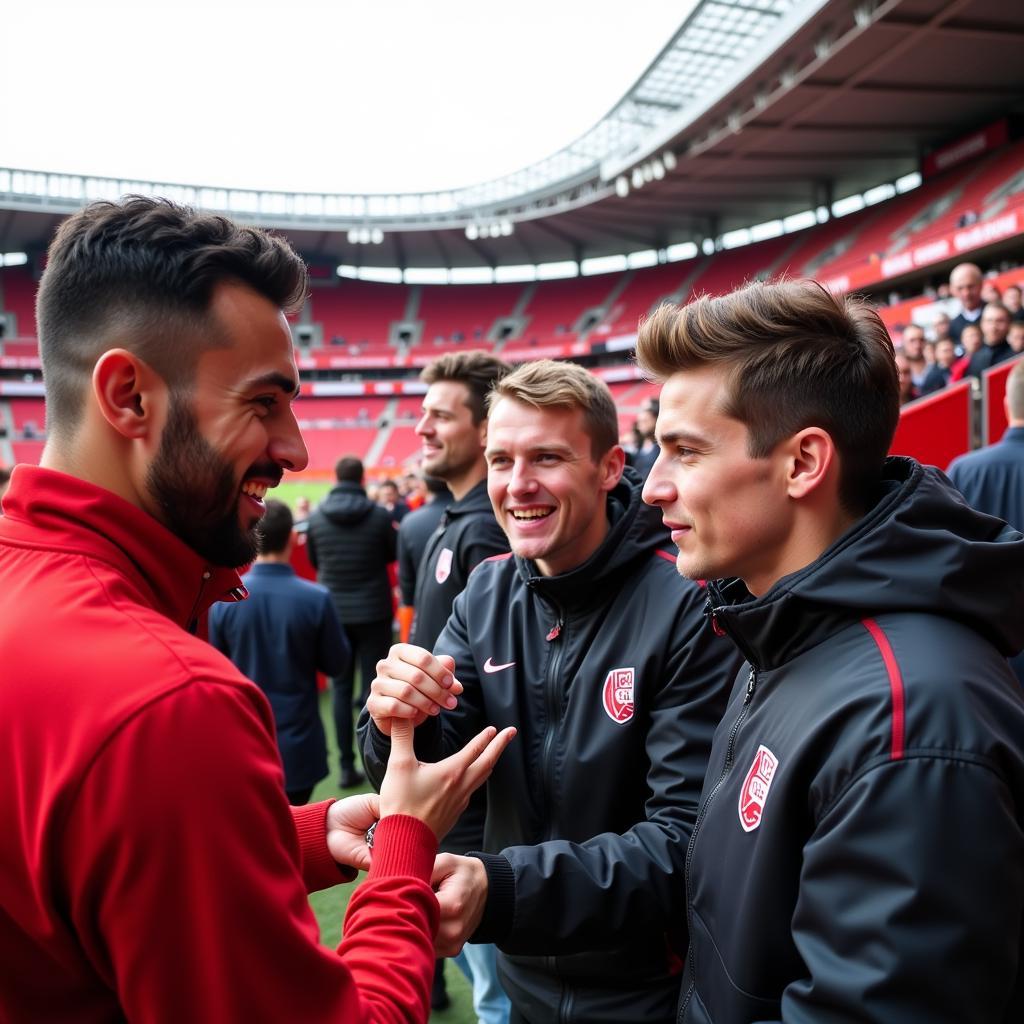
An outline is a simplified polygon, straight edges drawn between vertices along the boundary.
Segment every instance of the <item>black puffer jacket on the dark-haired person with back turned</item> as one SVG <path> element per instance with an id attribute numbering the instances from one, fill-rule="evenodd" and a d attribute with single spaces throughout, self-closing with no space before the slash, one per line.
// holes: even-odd
<path id="1" fill-rule="evenodd" d="M 389 562 L 397 529 L 387 509 L 343 480 L 309 516 L 306 545 L 316 579 L 331 591 L 342 625 L 391 621 Z"/>

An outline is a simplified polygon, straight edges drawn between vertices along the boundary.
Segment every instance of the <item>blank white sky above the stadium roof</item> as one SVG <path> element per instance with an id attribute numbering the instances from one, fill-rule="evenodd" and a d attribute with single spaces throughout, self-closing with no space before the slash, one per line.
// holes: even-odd
<path id="1" fill-rule="evenodd" d="M 0 5 L 0 167 L 371 193 L 550 156 L 695 0 Z"/>

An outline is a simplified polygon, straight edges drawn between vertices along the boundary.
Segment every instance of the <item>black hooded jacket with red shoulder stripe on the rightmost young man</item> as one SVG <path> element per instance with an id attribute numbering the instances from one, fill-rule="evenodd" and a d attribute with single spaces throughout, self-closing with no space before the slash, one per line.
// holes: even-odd
<path id="1" fill-rule="evenodd" d="M 1024 538 L 891 459 L 752 598 L 690 844 L 686 1024 L 1024 1020 Z"/>

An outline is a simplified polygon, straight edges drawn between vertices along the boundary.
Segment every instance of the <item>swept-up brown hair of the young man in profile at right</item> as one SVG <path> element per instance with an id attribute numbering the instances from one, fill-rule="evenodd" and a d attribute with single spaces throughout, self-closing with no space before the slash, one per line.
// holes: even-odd
<path id="1" fill-rule="evenodd" d="M 840 455 L 840 502 L 857 514 L 869 506 L 899 421 L 899 379 L 892 340 L 862 299 L 781 281 L 662 306 L 641 325 L 637 361 L 662 382 L 726 371 L 721 412 L 745 424 L 752 458 L 805 427 L 826 430 Z"/>

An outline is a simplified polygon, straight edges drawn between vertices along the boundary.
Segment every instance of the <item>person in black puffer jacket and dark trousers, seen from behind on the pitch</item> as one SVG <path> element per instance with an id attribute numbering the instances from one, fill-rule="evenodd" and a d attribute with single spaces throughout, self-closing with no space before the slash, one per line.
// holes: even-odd
<path id="1" fill-rule="evenodd" d="M 316 579 L 331 592 L 352 648 L 348 668 L 331 680 L 334 726 L 343 790 L 358 785 L 352 750 L 352 691 L 356 666 L 366 695 L 377 663 L 391 646 L 391 584 L 387 567 L 395 558 L 396 529 L 387 509 L 362 487 L 362 463 L 345 456 L 335 466 L 338 485 L 309 516 L 306 537 Z M 361 703 L 361 700 L 360 700 Z"/>

